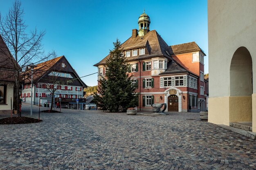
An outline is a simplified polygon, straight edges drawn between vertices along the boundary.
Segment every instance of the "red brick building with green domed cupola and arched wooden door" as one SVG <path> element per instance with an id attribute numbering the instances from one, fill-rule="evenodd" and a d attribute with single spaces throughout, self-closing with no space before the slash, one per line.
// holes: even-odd
<path id="1" fill-rule="evenodd" d="M 154 103 L 166 103 L 166 111 L 206 110 L 208 88 L 204 79 L 205 53 L 195 42 L 168 46 L 157 31 L 150 31 L 150 18 L 139 17 L 139 30 L 121 48 L 130 64 L 132 84 L 137 86 L 139 110 L 152 110 Z M 94 66 L 105 75 L 106 56 Z"/>

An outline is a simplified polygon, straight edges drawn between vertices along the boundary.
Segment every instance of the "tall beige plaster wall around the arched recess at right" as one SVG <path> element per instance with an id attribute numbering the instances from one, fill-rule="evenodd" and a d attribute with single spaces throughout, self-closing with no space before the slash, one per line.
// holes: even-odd
<path id="1" fill-rule="evenodd" d="M 240 88 L 233 88 L 234 79 L 230 80 L 232 57 L 239 47 L 245 47 L 252 57 L 252 87 L 256 89 L 256 71 L 253 69 L 256 68 L 256 0 L 208 0 L 208 37 L 209 122 L 229 125 L 230 121 L 238 120 L 241 115 L 229 113 L 237 113 L 238 104 L 244 102 L 244 109 L 240 111 L 252 112 L 253 131 L 256 132 L 256 95 L 253 94 L 250 100 L 243 83 Z M 237 97 L 237 91 L 247 102 Z M 242 117 L 249 120 L 248 115 Z"/>

